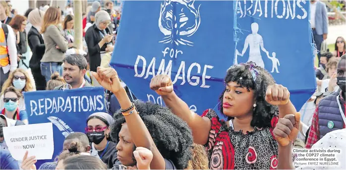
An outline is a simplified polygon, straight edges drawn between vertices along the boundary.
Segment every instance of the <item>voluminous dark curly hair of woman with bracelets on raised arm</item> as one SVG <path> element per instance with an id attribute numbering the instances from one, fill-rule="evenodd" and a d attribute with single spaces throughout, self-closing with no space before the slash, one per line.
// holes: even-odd
<path id="1" fill-rule="evenodd" d="M 171 160 L 177 170 L 185 169 L 192 158 L 193 144 L 192 132 L 186 122 L 174 115 L 170 109 L 158 104 L 139 100 L 135 100 L 134 104 L 161 155 Z M 125 118 L 118 111 L 114 114 L 114 119 L 115 123 L 111 125 L 111 138 L 117 143 Z"/>

